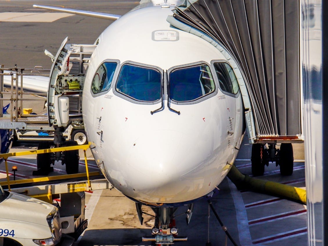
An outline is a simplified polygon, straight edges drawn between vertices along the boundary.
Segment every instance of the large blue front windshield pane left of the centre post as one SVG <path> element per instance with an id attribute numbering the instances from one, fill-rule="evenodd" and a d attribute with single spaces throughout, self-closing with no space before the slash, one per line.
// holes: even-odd
<path id="1" fill-rule="evenodd" d="M 136 100 L 154 102 L 162 95 L 161 77 L 155 69 L 125 64 L 118 75 L 116 91 Z"/>

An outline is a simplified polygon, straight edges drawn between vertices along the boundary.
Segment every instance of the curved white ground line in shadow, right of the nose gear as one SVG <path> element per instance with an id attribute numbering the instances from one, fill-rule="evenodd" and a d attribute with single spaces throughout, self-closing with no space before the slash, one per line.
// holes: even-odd
<path id="1" fill-rule="evenodd" d="M 228 179 L 229 188 L 236 208 L 236 218 L 238 221 L 239 241 L 241 245 L 252 245 L 252 237 L 249 231 L 247 212 L 241 193 L 236 186 Z"/>

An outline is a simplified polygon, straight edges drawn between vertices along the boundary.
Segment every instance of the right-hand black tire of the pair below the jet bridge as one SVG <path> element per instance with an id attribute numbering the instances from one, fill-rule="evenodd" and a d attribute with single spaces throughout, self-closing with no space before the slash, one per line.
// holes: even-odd
<path id="1" fill-rule="evenodd" d="M 282 143 L 279 150 L 280 174 L 290 176 L 294 169 L 294 152 L 291 143 Z"/>

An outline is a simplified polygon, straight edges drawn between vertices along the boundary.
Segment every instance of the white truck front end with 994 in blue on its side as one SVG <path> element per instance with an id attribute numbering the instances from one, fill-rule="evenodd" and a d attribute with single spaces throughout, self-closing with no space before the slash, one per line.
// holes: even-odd
<path id="1" fill-rule="evenodd" d="M 62 233 L 58 208 L 0 186 L 0 246 L 72 246 Z"/>

